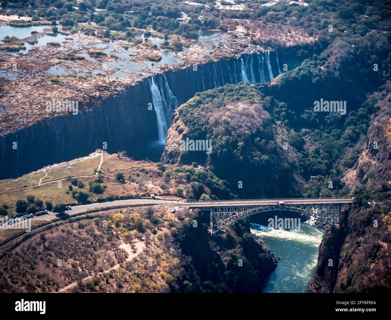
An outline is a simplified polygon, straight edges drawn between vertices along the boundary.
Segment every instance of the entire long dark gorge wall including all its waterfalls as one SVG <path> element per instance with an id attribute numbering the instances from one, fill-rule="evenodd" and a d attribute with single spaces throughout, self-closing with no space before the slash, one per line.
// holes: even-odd
<path id="1" fill-rule="evenodd" d="M 69 161 L 103 148 L 127 150 L 135 158 L 152 141 L 165 142 L 172 112 L 199 91 L 225 83 L 266 82 L 283 63 L 300 64 L 297 48 L 242 55 L 194 68 L 172 70 L 141 80 L 100 105 L 44 120 L 0 137 L 0 179 L 15 178 L 46 165 Z M 304 59 L 304 58 L 302 58 Z M 153 108 L 148 108 L 152 103 Z M 16 148 L 13 148 L 16 142 Z"/>

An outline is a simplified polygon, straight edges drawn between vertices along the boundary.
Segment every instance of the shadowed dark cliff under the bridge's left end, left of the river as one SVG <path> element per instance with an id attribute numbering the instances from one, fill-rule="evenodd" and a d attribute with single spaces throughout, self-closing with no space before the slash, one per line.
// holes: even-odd
<path id="1" fill-rule="evenodd" d="M 276 267 L 274 255 L 254 240 L 247 220 L 211 236 L 206 228 L 209 215 L 199 212 L 198 227 L 185 227 L 181 241 L 203 292 L 261 292 Z"/>

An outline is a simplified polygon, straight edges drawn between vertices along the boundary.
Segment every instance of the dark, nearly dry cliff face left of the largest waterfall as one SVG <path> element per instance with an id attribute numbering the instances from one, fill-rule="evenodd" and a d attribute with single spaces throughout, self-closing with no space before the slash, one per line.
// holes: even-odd
<path id="1" fill-rule="evenodd" d="M 148 88 L 143 81 L 88 111 L 57 116 L 1 137 L 0 179 L 75 159 L 104 148 L 104 142 L 108 152 L 140 148 L 156 136 L 156 119 L 147 109 Z"/>

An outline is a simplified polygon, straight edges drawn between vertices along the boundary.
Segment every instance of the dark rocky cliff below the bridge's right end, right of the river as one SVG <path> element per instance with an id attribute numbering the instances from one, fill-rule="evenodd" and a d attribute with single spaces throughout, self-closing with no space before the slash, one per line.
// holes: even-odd
<path id="1" fill-rule="evenodd" d="M 387 198 L 379 207 L 356 203 L 341 229 L 326 229 L 308 292 L 390 290 L 390 210 Z"/>

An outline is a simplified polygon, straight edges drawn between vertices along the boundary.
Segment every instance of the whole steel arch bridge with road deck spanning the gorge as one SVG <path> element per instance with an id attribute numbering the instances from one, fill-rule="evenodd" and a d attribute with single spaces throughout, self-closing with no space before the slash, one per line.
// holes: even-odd
<path id="1" fill-rule="evenodd" d="M 353 198 L 296 198 L 193 202 L 191 208 L 210 209 L 211 234 L 247 216 L 268 211 L 293 211 L 315 222 L 339 227 L 341 211 L 353 203 Z"/>

